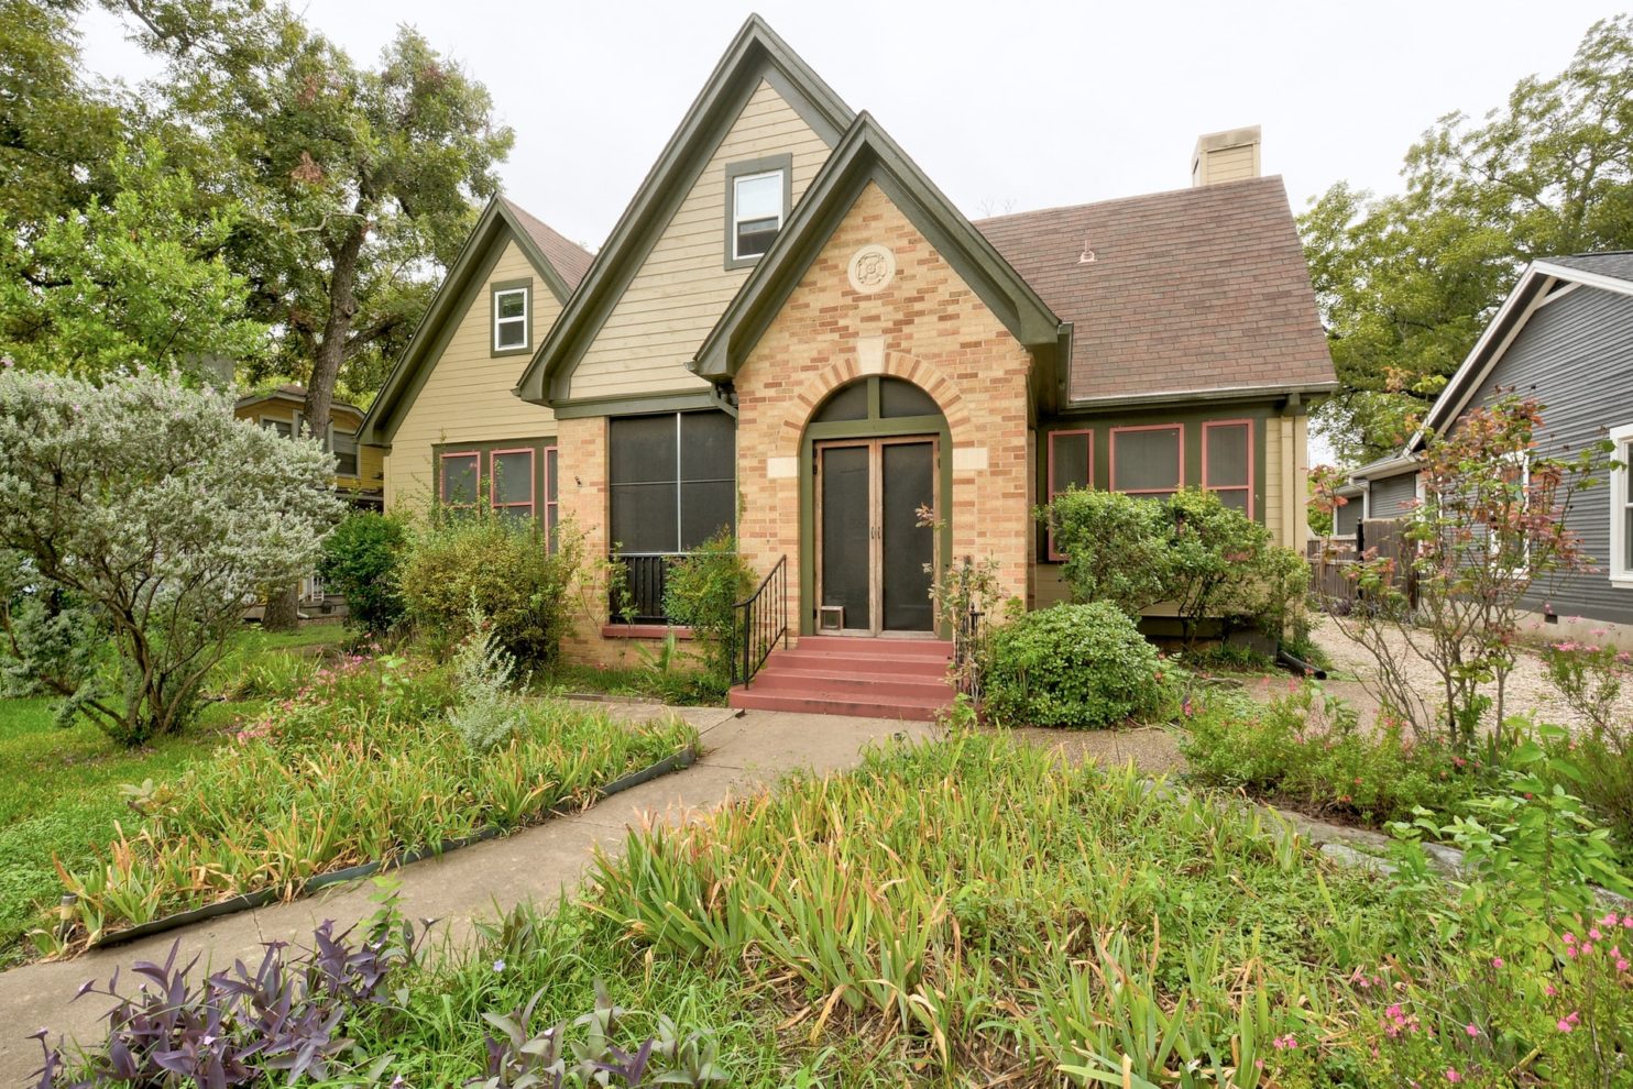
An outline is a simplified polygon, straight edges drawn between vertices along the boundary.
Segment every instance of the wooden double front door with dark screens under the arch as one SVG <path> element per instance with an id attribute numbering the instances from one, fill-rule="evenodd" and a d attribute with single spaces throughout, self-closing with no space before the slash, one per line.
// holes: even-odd
<path id="1" fill-rule="evenodd" d="M 934 632 L 937 439 L 834 439 L 816 454 L 816 630 Z"/>

